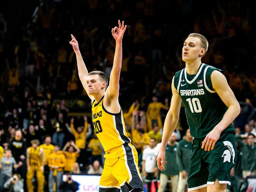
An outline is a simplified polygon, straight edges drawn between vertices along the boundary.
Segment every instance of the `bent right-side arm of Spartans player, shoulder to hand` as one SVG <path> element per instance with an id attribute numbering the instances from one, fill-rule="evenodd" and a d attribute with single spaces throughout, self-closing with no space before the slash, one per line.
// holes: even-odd
<path id="1" fill-rule="evenodd" d="M 211 82 L 213 84 L 213 89 L 228 107 L 228 110 L 225 112 L 220 123 L 206 135 L 206 138 L 202 142 L 202 149 L 205 151 L 213 150 L 216 141 L 220 138 L 221 132 L 225 130 L 225 128 L 227 128 L 240 113 L 240 105 L 237 99 L 235 99 L 235 95 L 231 88 L 228 86 L 225 76 L 219 71 L 214 70 L 211 74 Z"/>

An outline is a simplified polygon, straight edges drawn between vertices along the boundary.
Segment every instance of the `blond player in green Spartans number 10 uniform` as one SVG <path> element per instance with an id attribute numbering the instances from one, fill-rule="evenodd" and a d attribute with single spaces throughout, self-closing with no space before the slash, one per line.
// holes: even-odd
<path id="1" fill-rule="evenodd" d="M 235 164 L 235 129 L 231 124 L 240 106 L 220 69 L 201 63 L 208 49 L 207 39 L 190 34 L 182 48 L 186 67 L 172 81 L 171 107 L 164 121 L 157 166 L 164 169 L 165 148 L 176 127 L 183 102 L 194 137 L 188 174 L 192 192 L 224 192 L 230 185 L 230 170 Z"/>

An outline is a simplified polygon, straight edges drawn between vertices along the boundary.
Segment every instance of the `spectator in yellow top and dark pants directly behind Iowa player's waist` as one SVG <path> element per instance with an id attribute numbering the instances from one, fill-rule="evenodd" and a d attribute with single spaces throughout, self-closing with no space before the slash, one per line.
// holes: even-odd
<path id="1" fill-rule="evenodd" d="M 92 149 L 92 156 L 89 158 L 89 163 L 90 165 L 93 164 L 93 161 L 98 160 L 100 164 L 102 164 L 101 161 L 101 154 L 102 154 L 102 149 L 100 148 L 100 140 L 96 136 L 96 133 L 93 133 L 93 138 L 90 140 L 88 144 L 88 148 Z"/>

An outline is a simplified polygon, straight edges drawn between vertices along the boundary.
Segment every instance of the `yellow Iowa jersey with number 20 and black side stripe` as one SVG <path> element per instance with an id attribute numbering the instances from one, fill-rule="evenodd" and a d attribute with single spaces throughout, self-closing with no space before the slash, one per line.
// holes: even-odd
<path id="1" fill-rule="evenodd" d="M 98 103 L 92 103 L 92 122 L 96 135 L 105 151 L 130 143 L 125 131 L 122 110 L 119 113 L 108 112 L 103 106 L 104 97 Z"/>

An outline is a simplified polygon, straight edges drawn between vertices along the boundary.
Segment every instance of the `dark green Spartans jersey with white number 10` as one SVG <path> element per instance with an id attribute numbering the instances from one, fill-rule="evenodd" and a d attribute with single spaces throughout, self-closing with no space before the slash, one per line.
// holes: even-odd
<path id="1" fill-rule="evenodd" d="M 175 73 L 174 86 L 185 106 L 190 134 L 195 138 L 206 135 L 221 121 L 227 106 L 220 99 L 211 83 L 211 73 L 220 69 L 201 64 L 197 74 L 187 74 L 186 68 Z M 222 133 L 235 133 L 230 124 Z"/>

